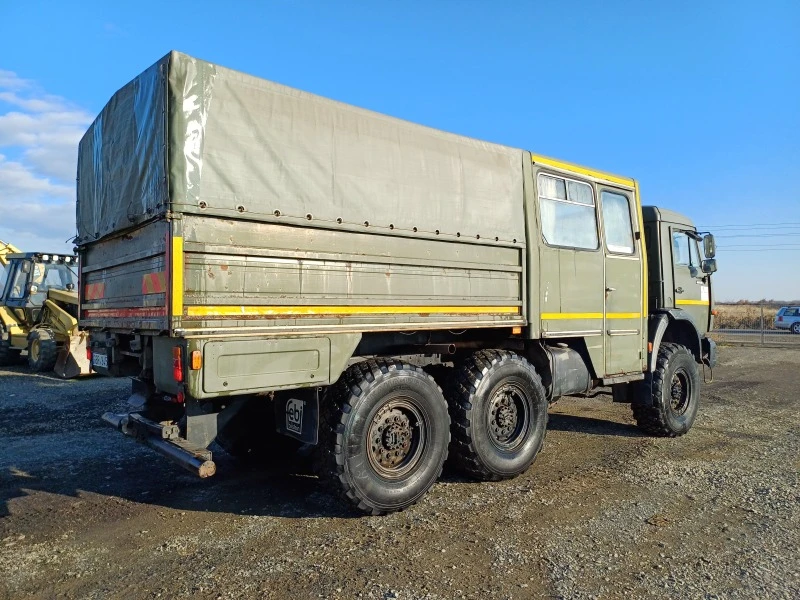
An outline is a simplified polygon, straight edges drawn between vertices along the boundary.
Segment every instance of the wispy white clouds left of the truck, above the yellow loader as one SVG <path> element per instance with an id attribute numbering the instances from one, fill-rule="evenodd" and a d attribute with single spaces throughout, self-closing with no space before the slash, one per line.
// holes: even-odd
<path id="1" fill-rule="evenodd" d="M 64 98 L 0 70 L 2 239 L 23 250 L 57 249 L 74 235 L 78 142 L 91 121 Z"/>

